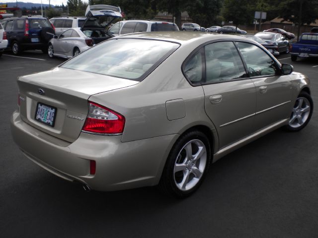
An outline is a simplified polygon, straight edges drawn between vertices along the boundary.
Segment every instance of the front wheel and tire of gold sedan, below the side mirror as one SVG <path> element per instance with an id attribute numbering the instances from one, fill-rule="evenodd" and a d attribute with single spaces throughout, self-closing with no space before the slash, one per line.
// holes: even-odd
<path id="1" fill-rule="evenodd" d="M 283 128 L 287 131 L 299 131 L 303 129 L 312 118 L 314 110 L 313 99 L 310 94 L 301 91 L 293 107 L 289 123 Z M 296 123 L 298 121 L 298 123 Z"/>

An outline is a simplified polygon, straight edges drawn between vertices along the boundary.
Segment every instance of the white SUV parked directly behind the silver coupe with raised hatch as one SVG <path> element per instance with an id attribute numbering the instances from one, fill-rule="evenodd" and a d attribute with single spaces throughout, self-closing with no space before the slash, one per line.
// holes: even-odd
<path id="1" fill-rule="evenodd" d="M 55 27 L 55 34 L 60 35 L 69 28 L 81 27 L 86 17 L 81 16 L 57 16 L 50 19 Z"/>

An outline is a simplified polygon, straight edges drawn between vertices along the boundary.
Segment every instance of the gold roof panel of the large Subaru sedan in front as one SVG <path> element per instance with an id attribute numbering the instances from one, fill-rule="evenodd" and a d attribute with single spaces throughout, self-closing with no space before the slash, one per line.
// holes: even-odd
<path id="1" fill-rule="evenodd" d="M 117 36 L 116 38 L 142 38 L 142 39 L 156 39 L 161 41 L 171 41 L 179 44 L 187 44 L 193 41 L 213 41 L 219 39 L 240 39 L 249 40 L 246 37 L 228 34 L 217 34 L 217 33 L 205 33 L 205 32 L 187 32 L 187 31 L 168 31 L 168 32 L 139 32 L 130 33 L 125 35 Z"/>

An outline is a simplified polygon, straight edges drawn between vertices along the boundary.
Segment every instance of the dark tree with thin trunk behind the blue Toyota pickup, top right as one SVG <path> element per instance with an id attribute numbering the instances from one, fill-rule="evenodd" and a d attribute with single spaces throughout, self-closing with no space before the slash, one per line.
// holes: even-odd
<path id="1" fill-rule="evenodd" d="M 300 27 L 305 23 L 311 24 L 318 18 L 317 0 L 282 0 L 278 8 L 280 17 L 298 24 L 298 39 Z"/>

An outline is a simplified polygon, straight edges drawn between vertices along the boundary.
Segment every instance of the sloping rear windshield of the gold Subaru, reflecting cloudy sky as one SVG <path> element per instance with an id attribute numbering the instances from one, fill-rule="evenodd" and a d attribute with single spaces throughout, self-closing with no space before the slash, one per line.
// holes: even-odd
<path id="1" fill-rule="evenodd" d="M 178 47 L 176 43 L 157 40 L 112 39 L 61 67 L 141 81 Z"/>

